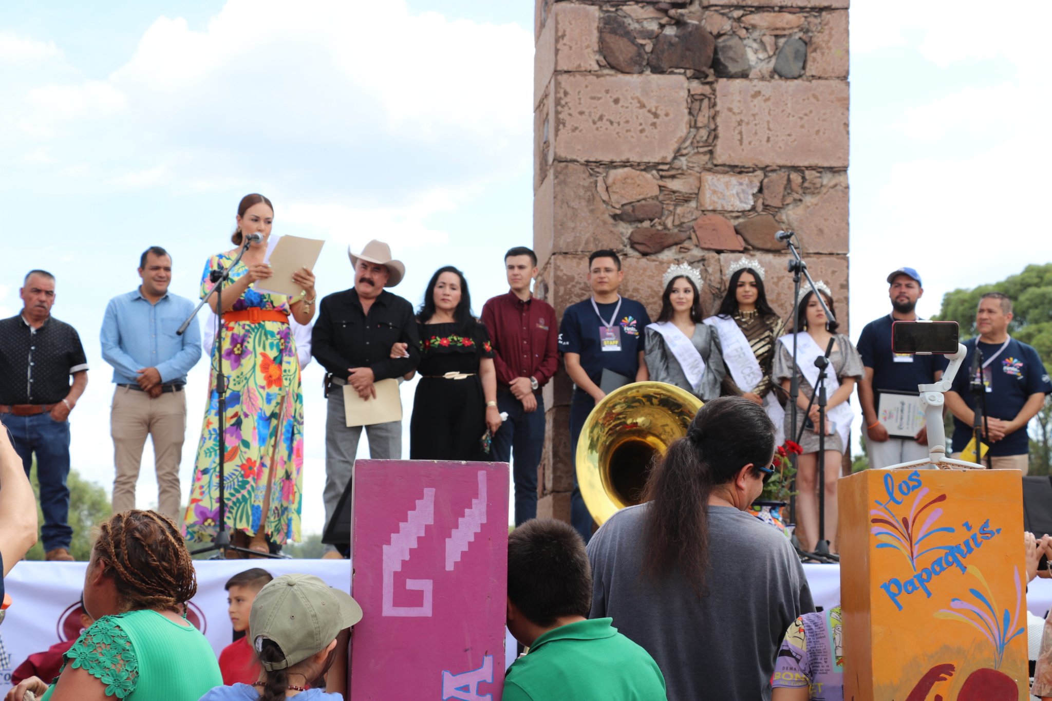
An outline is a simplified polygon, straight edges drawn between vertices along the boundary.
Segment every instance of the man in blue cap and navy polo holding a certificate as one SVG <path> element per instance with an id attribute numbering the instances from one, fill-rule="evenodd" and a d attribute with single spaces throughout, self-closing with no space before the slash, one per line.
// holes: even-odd
<path id="1" fill-rule="evenodd" d="M 866 325 L 858 336 L 866 376 L 858 383 L 858 404 L 866 419 L 866 452 L 869 467 L 883 469 L 899 462 L 928 457 L 928 431 L 913 437 L 889 436 L 879 421 L 881 393 L 917 393 L 917 385 L 938 380 L 946 370 L 942 355 L 896 354 L 891 350 L 891 325 L 915 322 L 916 304 L 924 295 L 920 273 L 913 268 L 898 268 L 888 275 L 891 313 Z"/>

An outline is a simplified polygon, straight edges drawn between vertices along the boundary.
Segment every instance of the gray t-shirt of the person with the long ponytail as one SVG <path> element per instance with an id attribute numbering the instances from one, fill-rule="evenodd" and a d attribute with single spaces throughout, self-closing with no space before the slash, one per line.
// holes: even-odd
<path id="1" fill-rule="evenodd" d="M 731 507 L 709 507 L 709 577 L 701 599 L 679 572 L 642 572 L 649 503 L 622 509 L 588 543 L 591 618 L 613 625 L 658 662 L 669 701 L 771 698 L 774 659 L 789 625 L 814 611 L 786 537 Z"/>

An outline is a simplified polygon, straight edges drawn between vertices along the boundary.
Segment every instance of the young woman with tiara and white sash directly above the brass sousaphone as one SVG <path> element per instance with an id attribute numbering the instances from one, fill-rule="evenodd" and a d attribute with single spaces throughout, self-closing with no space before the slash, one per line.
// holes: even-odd
<path id="1" fill-rule="evenodd" d="M 688 264 L 662 276 L 661 314 L 646 329 L 650 379 L 687 390 L 702 401 L 720 396 L 727 377 L 720 336 L 702 323 L 702 275 Z"/>

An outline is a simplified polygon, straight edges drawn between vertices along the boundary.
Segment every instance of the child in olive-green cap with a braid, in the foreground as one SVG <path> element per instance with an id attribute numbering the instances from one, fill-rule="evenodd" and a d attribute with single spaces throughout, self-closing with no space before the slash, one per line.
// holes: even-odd
<path id="1" fill-rule="evenodd" d="M 218 686 L 201 701 L 343 701 L 325 692 L 325 674 L 346 656 L 341 634 L 362 619 L 349 594 L 313 575 L 282 575 L 256 595 L 248 619 L 263 672 L 252 684 Z M 341 650 L 341 645 L 343 648 Z M 333 667 L 333 674 L 337 673 Z M 341 687 L 330 676 L 329 687 Z"/>

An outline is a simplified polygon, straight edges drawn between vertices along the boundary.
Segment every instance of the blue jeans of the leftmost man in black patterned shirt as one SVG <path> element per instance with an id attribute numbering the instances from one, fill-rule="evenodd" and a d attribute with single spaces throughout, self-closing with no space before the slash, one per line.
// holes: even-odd
<path id="1" fill-rule="evenodd" d="M 44 551 L 65 548 L 73 539 L 69 528 L 69 422 L 56 421 L 44 412 L 36 416 L 2 415 L 11 430 L 15 452 L 22 458 L 25 476 L 29 476 L 33 455 L 37 455 L 37 481 L 40 483 L 40 509 L 44 512 L 41 540 Z"/>

